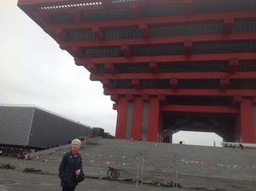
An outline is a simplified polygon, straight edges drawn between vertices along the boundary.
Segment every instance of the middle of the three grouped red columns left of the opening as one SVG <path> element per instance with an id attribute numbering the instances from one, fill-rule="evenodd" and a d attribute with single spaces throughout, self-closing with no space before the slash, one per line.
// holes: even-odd
<path id="1" fill-rule="evenodd" d="M 142 113 L 143 101 L 141 97 L 135 97 L 133 101 L 131 138 L 140 140 L 142 138 Z"/>

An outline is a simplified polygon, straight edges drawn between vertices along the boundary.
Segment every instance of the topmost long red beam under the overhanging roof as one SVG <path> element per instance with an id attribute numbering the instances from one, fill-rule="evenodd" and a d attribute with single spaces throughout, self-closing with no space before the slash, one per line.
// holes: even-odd
<path id="1" fill-rule="evenodd" d="M 32 15 L 31 15 L 32 16 Z M 34 16 L 34 19 L 36 16 Z M 38 17 L 38 16 L 37 16 Z M 99 26 L 103 30 L 113 29 L 127 29 L 127 28 L 138 28 L 141 24 L 147 24 L 148 27 L 153 26 L 167 26 L 167 25 L 198 25 L 198 24 L 209 24 L 209 23 L 223 23 L 225 18 L 234 18 L 234 22 L 241 20 L 255 20 L 256 11 L 240 11 L 240 12 L 229 12 L 229 13 L 217 13 L 217 14 L 193 14 L 187 17 L 187 15 L 170 16 L 170 17 L 155 17 L 145 19 L 126 19 L 126 20 L 109 20 L 97 21 L 90 23 L 77 24 L 58 24 L 58 25 L 47 25 L 44 30 L 55 30 L 59 26 L 63 27 L 67 31 L 81 31 L 81 30 L 92 30 L 94 26 Z M 39 24 L 38 24 L 39 25 Z"/>

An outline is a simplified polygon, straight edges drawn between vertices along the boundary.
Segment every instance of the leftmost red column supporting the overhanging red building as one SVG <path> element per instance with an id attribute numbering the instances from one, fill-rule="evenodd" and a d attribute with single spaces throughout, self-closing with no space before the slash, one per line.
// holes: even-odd
<path id="1" fill-rule="evenodd" d="M 125 97 L 120 97 L 118 101 L 115 139 L 125 139 L 126 118 L 127 118 L 127 101 Z"/>

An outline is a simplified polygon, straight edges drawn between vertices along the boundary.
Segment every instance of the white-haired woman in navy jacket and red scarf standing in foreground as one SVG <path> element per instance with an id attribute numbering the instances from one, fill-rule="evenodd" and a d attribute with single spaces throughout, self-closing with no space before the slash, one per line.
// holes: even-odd
<path id="1" fill-rule="evenodd" d="M 71 150 L 64 154 L 62 161 L 58 167 L 58 177 L 61 179 L 60 186 L 62 191 L 74 191 L 78 183 L 75 182 L 75 177 L 82 172 L 81 155 L 78 149 L 81 146 L 80 139 L 74 139 L 71 142 Z"/>

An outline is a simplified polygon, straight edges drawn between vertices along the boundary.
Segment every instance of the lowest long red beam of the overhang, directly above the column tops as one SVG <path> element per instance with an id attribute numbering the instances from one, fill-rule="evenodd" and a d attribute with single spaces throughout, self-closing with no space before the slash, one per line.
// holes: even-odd
<path id="1" fill-rule="evenodd" d="M 196 96 L 233 96 L 233 95 L 243 95 L 243 96 L 254 96 L 256 95 L 256 90 L 203 90 L 203 89 L 192 89 L 192 90 L 170 90 L 170 89 L 141 89 L 141 90 L 133 90 L 133 89 L 111 89 L 104 90 L 104 95 L 196 95 Z"/>

